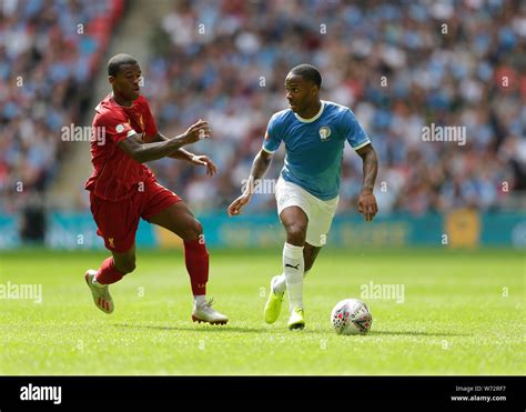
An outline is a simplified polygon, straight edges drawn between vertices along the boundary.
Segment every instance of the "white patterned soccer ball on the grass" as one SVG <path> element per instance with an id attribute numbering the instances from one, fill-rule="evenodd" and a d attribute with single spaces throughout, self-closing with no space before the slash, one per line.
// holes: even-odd
<path id="1" fill-rule="evenodd" d="M 356 299 L 337 302 L 331 312 L 331 324 L 337 334 L 364 334 L 372 323 L 373 315 L 367 305 Z"/>

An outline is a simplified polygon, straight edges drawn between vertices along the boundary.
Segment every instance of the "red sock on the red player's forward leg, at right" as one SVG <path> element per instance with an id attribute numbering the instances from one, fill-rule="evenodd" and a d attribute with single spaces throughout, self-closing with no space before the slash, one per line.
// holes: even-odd
<path id="1" fill-rule="evenodd" d="M 209 281 L 209 252 L 202 238 L 184 242 L 184 263 L 190 274 L 192 293 L 206 294 Z"/>

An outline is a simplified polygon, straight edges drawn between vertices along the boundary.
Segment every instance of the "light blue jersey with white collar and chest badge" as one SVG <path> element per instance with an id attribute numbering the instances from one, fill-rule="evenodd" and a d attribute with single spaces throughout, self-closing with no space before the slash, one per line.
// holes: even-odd
<path id="1" fill-rule="evenodd" d="M 302 119 L 291 109 L 274 113 L 263 150 L 273 153 L 283 141 L 283 179 L 321 200 L 331 200 L 340 190 L 345 140 L 354 150 L 371 143 L 351 109 L 322 100 L 320 112 L 312 119 Z"/>

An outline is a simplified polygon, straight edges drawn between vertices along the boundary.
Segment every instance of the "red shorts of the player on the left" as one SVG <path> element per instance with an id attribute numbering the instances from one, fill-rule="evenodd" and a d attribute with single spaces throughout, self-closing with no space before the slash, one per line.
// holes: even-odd
<path id="1" fill-rule="evenodd" d="M 131 198 L 110 202 L 90 192 L 91 214 L 97 223 L 97 234 L 104 239 L 107 249 L 122 253 L 135 242 L 139 218 L 148 220 L 168 207 L 181 201 L 174 192 L 155 181 L 144 184 Z"/>

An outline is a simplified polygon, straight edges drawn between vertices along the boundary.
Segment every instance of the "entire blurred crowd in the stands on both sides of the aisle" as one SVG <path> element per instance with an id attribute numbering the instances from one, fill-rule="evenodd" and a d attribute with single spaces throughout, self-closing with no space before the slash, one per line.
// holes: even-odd
<path id="1" fill-rule="evenodd" d="M 173 3 L 141 62 L 143 90 L 165 135 L 211 122 L 213 140 L 189 149 L 209 154 L 220 174 L 171 159 L 150 167 L 192 209 L 225 208 L 240 194 L 270 117 L 287 107 L 284 78 L 304 62 L 320 68 L 322 99 L 350 107 L 373 141 L 382 212 L 502 210 L 526 190 L 526 3 Z M 60 172 L 69 145 L 60 129 L 92 113 L 91 81 L 123 4 L 1 1 L 0 209 L 16 208 L 17 182 L 44 191 Z M 423 141 L 432 123 L 465 127 L 465 144 Z M 283 159 L 282 147 L 269 179 Z M 341 211 L 356 210 L 361 182 L 347 147 Z M 275 207 L 272 193 L 252 203 Z"/>

